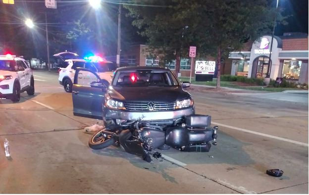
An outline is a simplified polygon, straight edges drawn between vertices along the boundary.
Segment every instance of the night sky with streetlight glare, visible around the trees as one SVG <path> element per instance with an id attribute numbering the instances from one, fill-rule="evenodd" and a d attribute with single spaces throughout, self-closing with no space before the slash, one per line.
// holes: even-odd
<path id="1" fill-rule="evenodd" d="M 2 0 L 1 0 L 2 1 Z M 271 6 L 276 6 L 276 0 L 269 0 Z M 283 15 L 292 15 L 287 19 L 288 25 L 278 25 L 275 29 L 276 36 L 282 36 L 283 33 L 302 32 L 308 34 L 309 0 L 279 0 L 278 8 L 284 9 Z M 82 19 L 83 22 L 92 24 L 92 29 L 101 36 L 100 40 L 105 43 L 101 48 L 102 53 L 114 55 L 116 52 L 117 42 L 117 25 L 118 25 L 118 4 L 113 0 L 106 3 L 103 9 L 94 11 L 88 0 L 78 2 L 69 2 L 68 0 L 58 1 L 57 9 L 48 9 L 45 7 L 43 0 L 15 0 L 15 4 L 4 4 L 0 2 L 0 45 L 5 45 L 11 52 L 22 53 L 18 55 L 43 56 L 46 57 L 46 31 L 45 31 L 45 11 L 48 11 L 49 39 L 51 45 L 56 44 L 54 39 L 59 39 L 57 33 L 63 30 L 67 20 Z M 67 7 L 71 10 L 61 12 Z M 122 14 L 122 48 L 126 44 L 145 43 L 146 39 L 137 34 L 138 29 L 131 25 L 132 18 L 125 16 L 127 10 L 123 9 Z M 25 27 L 25 18 L 31 18 L 38 24 L 37 32 Z M 84 50 L 91 50 L 93 44 L 83 44 Z M 97 43 L 100 45 L 101 43 Z M 20 47 L 19 51 L 16 50 Z M 90 46 L 91 45 L 91 46 Z M 58 48 L 58 50 L 70 48 Z M 72 50 L 73 51 L 73 50 Z M 25 53 L 27 52 L 27 53 Z M 55 50 L 51 51 L 55 52 Z"/>

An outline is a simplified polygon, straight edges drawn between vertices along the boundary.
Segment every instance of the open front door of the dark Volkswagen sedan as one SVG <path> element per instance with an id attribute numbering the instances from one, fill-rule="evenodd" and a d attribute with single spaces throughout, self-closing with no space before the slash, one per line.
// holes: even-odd
<path id="1" fill-rule="evenodd" d="M 76 68 L 72 86 L 73 114 L 79 117 L 103 119 L 102 106 L 108 86 L 96 72 Z"/>

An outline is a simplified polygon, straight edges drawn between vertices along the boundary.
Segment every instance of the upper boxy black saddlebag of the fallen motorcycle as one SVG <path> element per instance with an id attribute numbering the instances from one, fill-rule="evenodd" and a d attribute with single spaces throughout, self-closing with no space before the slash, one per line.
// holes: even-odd
<path id="1" fill-rule="evenodd" d="M 185 120 L 188 128 L 208 127 L 211 124 L 211 116 L 209 115 L 189 115 Z"/>

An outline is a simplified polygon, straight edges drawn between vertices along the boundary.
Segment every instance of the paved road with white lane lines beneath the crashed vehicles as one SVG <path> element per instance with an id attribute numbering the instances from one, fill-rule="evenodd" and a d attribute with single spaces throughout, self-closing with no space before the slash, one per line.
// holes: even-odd
<path id="1" fill-rule="evenodd" d="M 308 194 L 306 103 L 192 91 L 197 114 L 219 126 L 218 145 L 147 163 L 116 146 L 91 150 L 83 128 L 102 121 L 73 116 L 57 74 L 34 75 L 35 96 L 0 100 L 0 193 Z M 274 168 L 283 176 L 265 174 Z"/>

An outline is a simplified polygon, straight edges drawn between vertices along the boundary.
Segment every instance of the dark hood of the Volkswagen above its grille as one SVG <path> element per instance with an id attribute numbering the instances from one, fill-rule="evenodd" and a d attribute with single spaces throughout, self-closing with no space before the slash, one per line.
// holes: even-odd
<path id="1" fill-rule="evenodd" d="M 113 99 L 134 102 L 176 102 L 190 97 L 180 86 L 174 87 L 113 87 L 108 91 Z"/>

